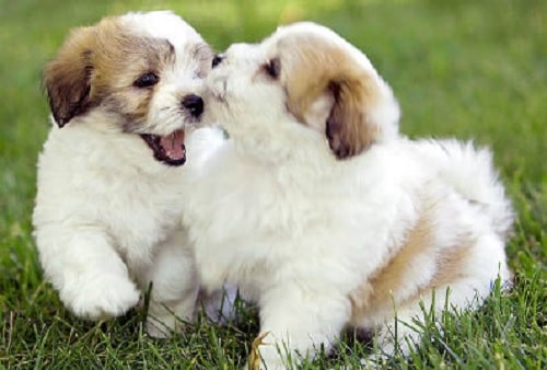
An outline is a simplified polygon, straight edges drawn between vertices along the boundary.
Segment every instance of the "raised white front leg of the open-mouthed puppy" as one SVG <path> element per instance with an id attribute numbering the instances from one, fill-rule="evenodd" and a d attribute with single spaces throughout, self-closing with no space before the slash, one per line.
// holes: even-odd
<path id="1" fill-rule="evenodd" d="M 75 315 L 101 320 L 124 314 L 139 291 L 108 236 L 98 228 L 40 228 L 36 241 L 46 276 Z"/>

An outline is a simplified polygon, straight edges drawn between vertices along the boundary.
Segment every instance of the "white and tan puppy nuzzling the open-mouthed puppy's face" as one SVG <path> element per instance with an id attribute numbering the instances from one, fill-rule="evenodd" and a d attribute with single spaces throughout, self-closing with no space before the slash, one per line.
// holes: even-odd
<path id="1" fill-rule="evenodd" d="M 513 213 L 490 152 L 399 136 L 392 90 L 330 30 L 233 45 L 206 85 L 203 122 L 230 139 L 188 141 L 185 218 L 201 281 L 258 302 L 260 369 L 328 351 L 346 327 L 408 354 L 420 302 L 475 307 L 509 278 Z"/>

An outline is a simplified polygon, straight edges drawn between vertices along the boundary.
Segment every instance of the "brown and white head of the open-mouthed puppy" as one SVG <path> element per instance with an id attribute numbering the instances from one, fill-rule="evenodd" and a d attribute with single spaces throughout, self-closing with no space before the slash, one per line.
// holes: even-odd
<path id="1" fill-rule="evenodd" d="M 44 71 L 56 123 L 140 135 L 164 163 L 185 161 L 184 127 L 200 119 L 212 51 L 171 12 L 107 18 L 72 32 Z"/>

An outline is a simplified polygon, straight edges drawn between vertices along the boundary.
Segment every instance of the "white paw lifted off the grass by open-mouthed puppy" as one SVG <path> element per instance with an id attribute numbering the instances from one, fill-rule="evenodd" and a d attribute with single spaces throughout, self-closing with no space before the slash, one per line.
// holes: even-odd
<path id="1" fill-rule="evenodd" d="M 139 296 L 131 280 L 113 274 L 79 279 L 60 292 L 61 300 L 77 316 L 93 321 L 123 315 L 137 305 Z"/>

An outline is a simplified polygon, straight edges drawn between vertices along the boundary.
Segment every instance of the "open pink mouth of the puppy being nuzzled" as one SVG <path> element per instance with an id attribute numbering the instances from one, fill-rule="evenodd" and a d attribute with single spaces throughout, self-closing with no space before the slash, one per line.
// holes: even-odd
<path id="1" fill-rule="evenodd" d="M 167 136 L 141 134 L 141 138 L 154 152 L 154 158 L 168 165 L 182 165 L 186 162 L 184 130 L 176 130 Z"/>

